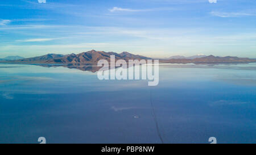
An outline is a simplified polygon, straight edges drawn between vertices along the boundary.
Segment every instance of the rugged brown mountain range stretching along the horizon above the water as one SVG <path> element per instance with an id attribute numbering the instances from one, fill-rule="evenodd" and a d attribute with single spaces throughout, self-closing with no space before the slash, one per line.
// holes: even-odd
<path id="1" fill-rule="evenodd" d="M 82 52 L 79 54 L 70 54 L 70 55 L 56 55 L 48 54 L 44 56 L 31 57 L 31 58 L 21 58 L 18 60 L 9 60 L 6 62 L 20 62 L 20 63 L 33 63 L 33 64 L 97 64 L 99 60 L 110 61 L 110 55 L 115 55 L 115 60 L 141 60 L 141 59 L 152 59 L 150 57 L 133 55 L 129 52 L 115 53 L 115 52 L 104 52 L 104 51 L 88 51 Z M 0 60 L 1 61 L 1 60 Z M 172 56 L 167 59 L 160 59 L 159 62 L 166 63 L 221 63 L 221 62 L 256 62 L 255 59 L 250 58 L 239 58 L 239 57 L 218 57 L 218 56 L 205 56 L 205 55 L 196 55 L 191 57 L 184 56 Z"/>

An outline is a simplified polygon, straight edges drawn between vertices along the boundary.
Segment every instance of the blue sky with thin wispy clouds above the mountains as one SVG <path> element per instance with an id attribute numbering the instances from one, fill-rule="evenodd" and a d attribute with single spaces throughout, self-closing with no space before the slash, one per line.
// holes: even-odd
<path id="1" fill-rule="evenodd" d="M 256 58 L 255 0 L 12 0 L 0 10 L 0 58 L 92 49 Z"/>

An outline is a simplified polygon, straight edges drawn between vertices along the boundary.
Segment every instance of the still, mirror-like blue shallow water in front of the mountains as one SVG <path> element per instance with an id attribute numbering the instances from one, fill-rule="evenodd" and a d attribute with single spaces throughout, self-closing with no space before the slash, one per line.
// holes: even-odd
<path id="1" fill-rule="evenodd" d="M 158 86 L 0 64 L 0 143 L 256 143 L 255 94 L 256 63 L 160 64 Z"/>

